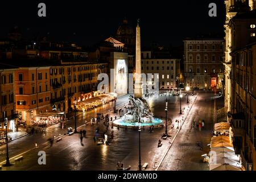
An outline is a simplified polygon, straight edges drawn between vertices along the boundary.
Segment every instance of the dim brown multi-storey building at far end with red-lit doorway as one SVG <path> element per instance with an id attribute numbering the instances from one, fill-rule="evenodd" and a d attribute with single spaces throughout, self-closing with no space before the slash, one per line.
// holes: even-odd
<path id="1" fill-rule="evenodd" d="M 183 42 L 185 84 L 199 89 L 221 89 L 224 76 L 224 41 L 192 38 Z"/>

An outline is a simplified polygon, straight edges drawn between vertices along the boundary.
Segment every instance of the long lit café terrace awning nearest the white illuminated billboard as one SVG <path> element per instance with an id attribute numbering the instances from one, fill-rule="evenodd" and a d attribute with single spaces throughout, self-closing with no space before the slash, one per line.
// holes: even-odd
<path id="1" fill-rule="evenodd" d="M 98 106 L 108 104 L 110 101 L 113 101 L 115 99 L 115 96 L 113 94 L 101 94 L 96 97 L 92 98 L 80 98 L 76 102 L 76 109 L 80 111 L 86 111 L 93 108 L 96 108 Z M 75 106 L 75 103 L 73 104 L 73 108 Z"/>

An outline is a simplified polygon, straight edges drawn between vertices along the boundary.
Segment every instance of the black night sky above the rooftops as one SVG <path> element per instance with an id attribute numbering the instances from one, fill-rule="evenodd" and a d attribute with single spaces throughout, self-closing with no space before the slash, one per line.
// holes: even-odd
<path id="1" fill-rule="evenodd" d="M 39 18 L 38 3 L 44 2 L 47 17 Z M 217 17 L 209 17 L 208 5 L 217 4 Z M 34 38 L 76 41 L 89 46 L 115 36 L 124 17 L 135 26 L 141 19 L 142 46 L 151 42 L 182 45 L 183 38 L 201 34 L 224 34 L 225 5 L 221 0 L 169 1 L 0 1 L 0 38 L 15 26 Z M 75 34 L 74 34 L 75 33 Z"/>

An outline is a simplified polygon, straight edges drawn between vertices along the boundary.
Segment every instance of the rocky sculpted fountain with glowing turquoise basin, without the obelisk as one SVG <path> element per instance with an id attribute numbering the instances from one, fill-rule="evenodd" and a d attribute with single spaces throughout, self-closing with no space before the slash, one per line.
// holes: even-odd
<path id="1" fill-rule="evenodd" d="M 134 98 L 133 96 L 129 97 L 126 114 L 119 119 L 115 119 L 113 124 L 121 127 L 137 127 L 139 126 L 138 118 L 141 120 L 142 127 L 163 126 L 162 119 L 153 117 L 147 101 L 143 98 Z"/>

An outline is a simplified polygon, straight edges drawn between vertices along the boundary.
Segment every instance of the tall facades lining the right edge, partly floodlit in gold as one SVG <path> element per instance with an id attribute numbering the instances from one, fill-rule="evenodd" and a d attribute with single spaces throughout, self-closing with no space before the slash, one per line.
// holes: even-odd
<path id="1" fill-rule="evenodd" d="M 255 1 L 225 1 L 225 107 L 234 148 L 246 170 L 256 170 Z"/>

